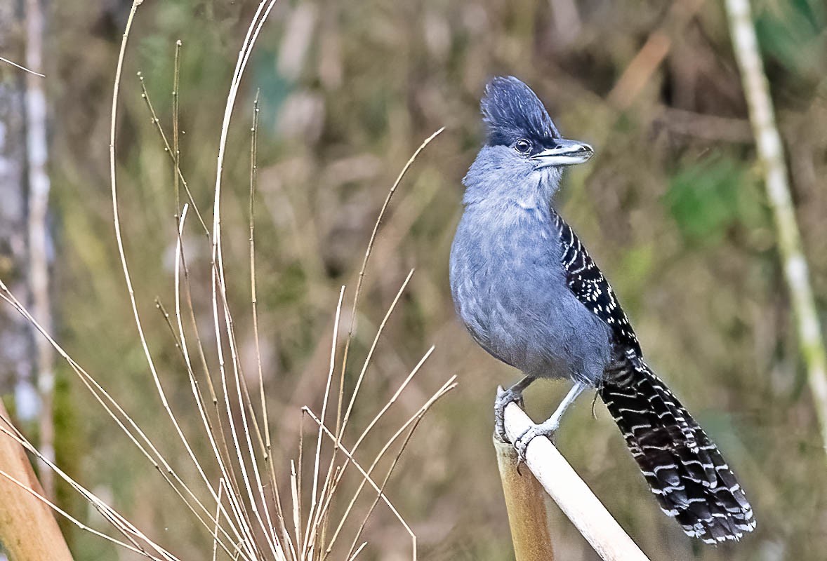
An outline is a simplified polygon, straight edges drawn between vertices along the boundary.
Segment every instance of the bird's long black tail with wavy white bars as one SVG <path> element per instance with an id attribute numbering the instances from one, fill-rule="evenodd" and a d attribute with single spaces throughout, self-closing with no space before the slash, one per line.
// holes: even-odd
<path id="1" fill-rule="evenodd" d="M 753 509 L 718 448 L 646 364 L 599 391 L 662 511 L 687 535 L 715 544 L 755 528 Z"/>

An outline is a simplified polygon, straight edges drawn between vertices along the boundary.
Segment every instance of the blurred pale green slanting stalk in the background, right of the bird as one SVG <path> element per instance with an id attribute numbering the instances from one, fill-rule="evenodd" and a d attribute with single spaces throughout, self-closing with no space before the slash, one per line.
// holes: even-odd
<path id="1" fill-rule="evenodd" d="M 758 50 L 749 0 L 727 0 L 726 12 L 735 58 L 741 71 L 743 93 L 749 106 L 749 121 L 753 125 L 758 158 L 763 167 L 764 187 L 778 231 L 778 253 L 796 314 L 807 382 L 819 421 L 822 445 L 827 450 L 827 353 L 810 288 L 810 273 L 801 245 L 796 212 L 792 207 L 784 147 L 772 109 L 769 83 Z"/>

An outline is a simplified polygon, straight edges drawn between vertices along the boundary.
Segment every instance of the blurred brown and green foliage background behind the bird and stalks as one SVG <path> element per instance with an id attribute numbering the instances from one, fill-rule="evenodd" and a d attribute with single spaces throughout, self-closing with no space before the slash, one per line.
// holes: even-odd
<path id="1" fill-rule="evenodd" d="M 123 0 L 84 0 L 48 10 L 58 335 L 188 473 L 151 387 L 112 235 L 109 111 L 128 8 Z M 191 423 L 196 412 L 185 373 L 153 302 L 172 294 L 173 175 L 136 72 L 169 129 L 174 43 L 183 41 L 181 166 L 210 214 L 222 107 L 255 9 L 254 2 L 145 2 L 122 83 L 118 174 L 127 254 L 170 399 Z M 756 0 L 753 9 L 824 309 L 827 5 Z M 652 559 L 823 559 L 825 450 L 720 2 L 277 4 L 231 130 L 222 223 L 232 298 L 244 310 L 249 123 L 260 90 L 259 302 L 280 463 L 294 454 L 299 406 L 321 399 L 339 287 L 355 287 L 385 193 L 419 143 L 447 126 L 405 179 L 380 231 L 354 354 L 364 356 L 415 267 L 370 369 L 375 396 L 365 398 L 386 398 L 432 343 L 436 352 L 399 417 L 448 375 L 457 373 L 460 386 L 423 421 L 388 493 L 412 523 L 422 559 L 513 557 L 490 435 L 495 387 L 517 373 L 466 335 L 447 285 L 461 178 L 480 146 L 479 97 L 495 74 L 529 83 L 564 135 L 595 146 L 595 158 L 567 175 L 562 214 L 611 279 L 648 362 L 739 474 L 758 530 L 740 544 L 692 543 L 662 516 L 610 416 L 598 404 L 593 418 L 589 398 L 566 417 L 562 452 Z M 193 219 L 189 266 L 203 273 L 209 248 Z M 208 324 L 208 282 L 196 291 Z M 237 317 L 237 336 L 251 366 L 248 315 Z M 62 371 L 58 388 L 59 464 L 175 554 L 208 559 L 208 535 L 77 380 Z M 545 418 L 565 389 L 533 387 L 529 411 Z M 61 492 L 60 503 L 100 524 L 71 493 Z M 131 559 L 65 530 L 76 559 Z M 562 515 L 553 532 L 559 559 L 597 559 Z M 366 559 L 409 559 L 409 542 L 389 516 L 374 517 L 366 540 Z"/>

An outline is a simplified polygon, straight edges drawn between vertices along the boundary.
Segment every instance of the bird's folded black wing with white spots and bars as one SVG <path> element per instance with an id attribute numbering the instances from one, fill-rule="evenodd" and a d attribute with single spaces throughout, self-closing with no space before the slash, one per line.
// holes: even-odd
<path id="1" fill-rule="evenodd" d="M 571 226 L 557 212 L 554 212 L 554 222 L 560 234 L 562 265 L 566 269 L 569 290 L 595 316 L 605 321 L 612 332 L 612 343 L 620 347 L 618 350 L 631 349 L 636 356 L 643 356 L 638 336 L 634 334 L 632 324 L 614 296 L 609 281 L 591 259 Z"/>

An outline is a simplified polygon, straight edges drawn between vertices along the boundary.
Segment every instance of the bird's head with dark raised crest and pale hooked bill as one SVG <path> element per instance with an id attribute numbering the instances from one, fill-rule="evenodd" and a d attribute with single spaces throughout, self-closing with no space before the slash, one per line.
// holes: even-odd
<path id="1" fill-rule="evenodd" d="M 480 105 L 487 145 L 500 147 L 500 157 L 508 156 L 520 167 L 581 164 L 594 155 L 585 142 L 562 138 L 543 102 L 514 76 L 493 78 Z"/>

